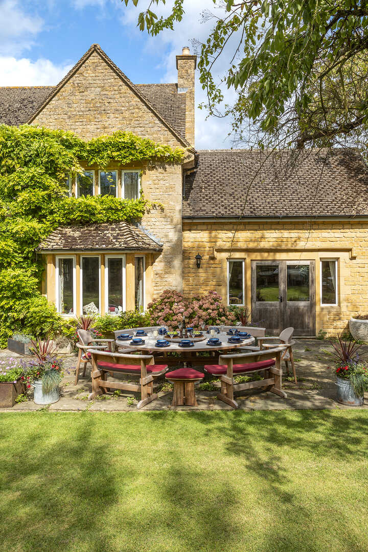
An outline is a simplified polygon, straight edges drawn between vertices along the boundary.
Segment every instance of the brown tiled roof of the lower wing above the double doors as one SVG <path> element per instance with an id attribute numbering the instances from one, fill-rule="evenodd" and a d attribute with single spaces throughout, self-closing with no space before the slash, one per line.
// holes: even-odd
<path id="1" fill-rule="evenodd" d="M 288 152 L 199 151 L 183 217 L 368 216 L 368 167 L 358 151 L 312 150 L 296 169 L 288 163 Z"/>

